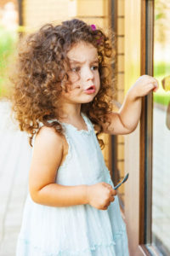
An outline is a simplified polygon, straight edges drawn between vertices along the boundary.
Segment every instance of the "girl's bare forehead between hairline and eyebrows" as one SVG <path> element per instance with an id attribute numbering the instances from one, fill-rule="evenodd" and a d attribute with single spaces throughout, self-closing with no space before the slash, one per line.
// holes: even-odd
<path id="1" fill-rule="evenodd" d="M 98 50 L 93 44 L 79 42 L 71 47 L 67 56 L 70 61 L 83 61 L 87 58 L 94 61 L 96 59 L 98 60 Z"/>

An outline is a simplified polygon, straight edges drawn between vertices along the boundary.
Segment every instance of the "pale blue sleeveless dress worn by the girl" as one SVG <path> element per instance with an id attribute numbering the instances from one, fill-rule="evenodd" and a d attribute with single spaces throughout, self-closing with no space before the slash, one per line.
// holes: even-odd
<path id="1" fill-rule="evenodd" d="M 91 121 L 88 131 L 61 123 L 69 145 L 56 183 L 68 186 L 110 183 L 111 175 Z M 128 256 L 126 225 L 117 196 L 107 210 L 90 205 L 48 207 L 28 194 L 16 256 Z"/>

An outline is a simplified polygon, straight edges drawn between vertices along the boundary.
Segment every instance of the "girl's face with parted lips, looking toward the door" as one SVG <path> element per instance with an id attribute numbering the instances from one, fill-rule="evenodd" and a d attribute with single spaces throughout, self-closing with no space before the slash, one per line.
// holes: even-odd
<path id="1" fill-rule="evenodd" d="M 93 44 L 77 43 L 68 51 L 71 70 L 67 91 L 62 100 L 74 103 L 92 102 L 99 91 L 99 60 Z"/>

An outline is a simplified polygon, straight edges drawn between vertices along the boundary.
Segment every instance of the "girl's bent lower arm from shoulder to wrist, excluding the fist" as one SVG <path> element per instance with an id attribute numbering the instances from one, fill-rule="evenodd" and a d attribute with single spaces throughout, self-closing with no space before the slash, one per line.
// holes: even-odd
<path id="1" fill-rule="evenodd" d="M 86 204 L 86 186 L 63 186 L 55 183 L 63 158 L 64 139 L 53 128 L 43 126 L 37 134 L 31 169 L 29 190 L 31 199 L 52 207 Z"/>

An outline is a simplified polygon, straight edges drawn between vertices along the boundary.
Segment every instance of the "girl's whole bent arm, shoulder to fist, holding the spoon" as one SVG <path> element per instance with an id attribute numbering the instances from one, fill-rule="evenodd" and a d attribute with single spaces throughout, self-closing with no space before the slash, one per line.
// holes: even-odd
<path id="1" fill-rule="evenodd" d="M 37 134 L 29 172 L 31 199 L 50 207 L 89 204 L 106 210 L 116 195 L 110 184 L 64 186 L 55 183 L 57 170 L 65 154 L 64 145 L 64 137 L 53 128 L 43 126 Z"/>

